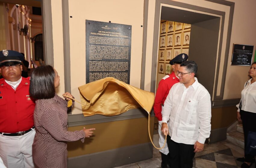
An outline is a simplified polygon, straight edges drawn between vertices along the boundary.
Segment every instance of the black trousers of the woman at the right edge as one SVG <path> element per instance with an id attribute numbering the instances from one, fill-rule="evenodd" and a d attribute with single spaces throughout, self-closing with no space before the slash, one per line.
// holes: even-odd
<path id="1" fill-rule="evenodd" d="M 246 150 L 248 132 L 249 131 L 256 132 L 256 113 L 240 110 L 240 115 L 243 123 L 244 136 L 245 136 L 245 150 Z M 247 154 L 245 155 L 245 162 L 251 163 L 253 158 L 254 158 L 253 155 Z"/>

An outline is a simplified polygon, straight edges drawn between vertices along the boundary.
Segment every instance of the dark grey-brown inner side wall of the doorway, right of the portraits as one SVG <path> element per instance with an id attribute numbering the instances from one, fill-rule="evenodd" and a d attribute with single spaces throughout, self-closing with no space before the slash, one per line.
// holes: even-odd
<path id="1" fill-rule="evenodd" d="M 213 95 L 220 18 L 191 25 L 189 60 L 198 64 L 196 77 Z"/>

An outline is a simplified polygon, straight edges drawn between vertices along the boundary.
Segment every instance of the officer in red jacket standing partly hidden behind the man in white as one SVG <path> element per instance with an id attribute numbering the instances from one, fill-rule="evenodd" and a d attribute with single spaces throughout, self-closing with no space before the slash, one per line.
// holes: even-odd
<path id="1" fill-rule="evenodd" d="M 171 87 L 175 84 L 180 82 L 177 71 L 180 69 L 180 64 L 183 61 L 186 61 L 188 59 L 187 54 L 180 54 L 177 55 L 175 58 L 173 58 L 170 61 L 170 64 L 172 65 L 173 72 L 170 75 L 164 76 L 158 85 L 158 89 L 156 91 L 155 95 L 155 103 L 154 103 L 154 113 L 155 117 L 158 119 L 158 133 L 159 133 L 159 145 L 162 147 L 164 145 L 164 140 L 165 136 L 161 132 L 161 126 L 162 126 L 162 107 L 164 106 L 164 101 L 167 98 L 167 95 L 171 89 Z M 162 168 L 168 168 L 168 146 L 165 145 L 163 149 L 160 149 L 161 152 L 161 158 L 162 158 L 162 163 L 161 167 Z"/>

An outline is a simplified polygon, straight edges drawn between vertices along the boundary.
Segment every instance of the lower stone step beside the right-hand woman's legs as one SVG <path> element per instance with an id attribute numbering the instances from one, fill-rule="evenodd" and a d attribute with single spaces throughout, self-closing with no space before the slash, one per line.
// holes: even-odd
<path id="1" fill-rule="evenodd" d="M 228 132 L 227 140 L 243 149 L 245 148 L 244 134 L 239 131 Z"/>

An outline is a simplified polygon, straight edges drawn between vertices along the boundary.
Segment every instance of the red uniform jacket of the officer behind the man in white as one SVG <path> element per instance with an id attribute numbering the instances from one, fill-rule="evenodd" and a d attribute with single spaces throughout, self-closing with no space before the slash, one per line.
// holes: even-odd
<path id="1" fill-rule="evenodd" d="M 177 78 L 174 72 L 164 76 L 163 79 L 160 80 L 154 103 L 154 113 L 158 121 L 162 121 L 162 105 L 164 104 L 171 87 L 178 82 L 180 82 L 180 79 Z"/>

